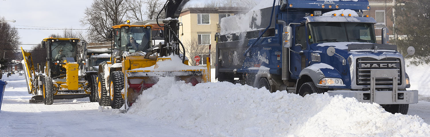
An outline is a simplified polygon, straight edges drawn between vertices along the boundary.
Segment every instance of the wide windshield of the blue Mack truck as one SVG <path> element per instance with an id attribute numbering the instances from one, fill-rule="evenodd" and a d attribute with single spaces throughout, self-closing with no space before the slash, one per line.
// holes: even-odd
<path id="1" fill-rule="evenodd" d="M 373 23 L 362 22 L 310 22 L 312 43 L 369 42 L 376 43 Z"/>

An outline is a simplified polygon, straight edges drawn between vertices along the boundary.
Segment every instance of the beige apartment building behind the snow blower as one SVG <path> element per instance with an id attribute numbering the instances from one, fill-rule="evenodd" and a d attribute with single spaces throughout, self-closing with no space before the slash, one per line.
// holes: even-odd
<path id="1" fill-rule="evenodd" d="M 206 66 L 206 57 L 209 57 L 211 45 L 211 65 L 215 62 L 215 33 L 220 32 L 221 18 L 229 17 L 246 11 L 243 7 L 217 7 L 217 8 L 186 8 L 179 15 L 179 39 L 186 48 L 186 56 L 190 65 Z M 194 57 L 198 55 L 201 60 L 196 63 Z"/>

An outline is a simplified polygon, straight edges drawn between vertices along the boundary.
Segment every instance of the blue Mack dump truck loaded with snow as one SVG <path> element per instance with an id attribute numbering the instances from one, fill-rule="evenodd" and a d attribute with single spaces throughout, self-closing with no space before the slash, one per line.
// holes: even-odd
<path id="1" fill-rule="evenodd" d="M 406 90 L 404 57 L 388 44 L 387 28 L 377 43 L 376 21 L 363 15 L 370 8 L 367 0 L 281 0 L 222 18 L 215 77 L 270 92 L 354 97 L 407 114 L 418 91 Z"/>

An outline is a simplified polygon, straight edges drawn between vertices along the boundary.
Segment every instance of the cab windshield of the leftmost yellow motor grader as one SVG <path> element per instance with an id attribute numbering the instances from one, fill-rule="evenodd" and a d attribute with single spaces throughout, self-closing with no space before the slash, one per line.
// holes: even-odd
<path id="1" fill-rule="evenodd" d="M 74 46 L 75 45 L 75 46 Z M 51 44 L 52 59 L 64 60 L 67 57 L 73 57 L 76 60 L 76 44 L 69 41 L 55 41 Z"/>

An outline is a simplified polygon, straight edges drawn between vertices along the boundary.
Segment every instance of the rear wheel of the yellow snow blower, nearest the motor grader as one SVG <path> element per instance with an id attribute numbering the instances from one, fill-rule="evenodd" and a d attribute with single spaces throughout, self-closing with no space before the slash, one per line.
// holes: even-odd
<path id="1" fill-rule="evenodd" d="M 108 91 L 106 90 L 106 86 L 104 84 L 104 73 L 98 74 L 98 104 L 100 106 L 110 106 L 111 98 L 108 95 Z"/>

